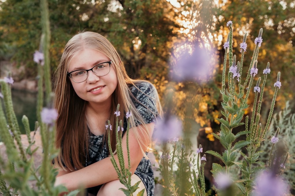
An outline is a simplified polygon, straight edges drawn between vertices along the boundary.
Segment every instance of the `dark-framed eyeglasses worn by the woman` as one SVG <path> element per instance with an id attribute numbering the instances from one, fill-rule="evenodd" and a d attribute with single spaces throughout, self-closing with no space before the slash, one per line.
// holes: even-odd
<path id="1" fill-rule="evenodd" d="M 98 65 L 94 66 L 91 69 L 79 69 L 75 71 L 71 71 L 67 73 L 67 76 L 70 76 L 72 80 L 76 83 L 84 82 L 87 80 L 88 71 L 92 71 L 96 76 L 105 76 L 110 72 L 111 64 L 113 61 L 108 61 L 104 63 L 99 63 Z"/>

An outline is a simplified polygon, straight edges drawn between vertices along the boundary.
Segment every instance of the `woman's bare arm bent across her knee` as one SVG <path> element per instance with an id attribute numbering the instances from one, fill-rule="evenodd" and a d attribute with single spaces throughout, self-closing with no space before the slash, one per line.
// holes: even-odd
<path id="1" fill-rule="evenodd" d="M 153 133 L 155 124 L 150 123 L 147 125 L 150 136 Z M 130 164 L 132 174 L 135 172 L 140 160 L 143 155 L 140 150 L 140 146 L 135 138 L 134 132 L 137 131 L 137 127 L 131 128 L 129 130 L 129 150 L 130 150 Z M 140 138 L 147 138 L 148 136 L 145 133 L 139 133 Z M 145 146 L 142 146 L 143 149 L 146 149 L 148 146 L 148 140 L 144 140 Z M 126 134 L 122 138 L 122 148 L 124 153 L 125 167 L 128 167 L 127 160 L 127 145 L 126 145 Z M 119 165 L 117 155 L 114 155 L 114 158 Z M 113 180 L 117 180 L 118 175 L 114 169 L 114 166 L 111 163 L 110 157 L 107 157 L 103 160 L 100 160 L 96 163 L 93 163 L 87 167 L 82 168 L 71 173 L 66 173 L 56 178 L 55 185 L 64 184 L 69 191 L 75 190 L 81 187 L 94 187 L 97 185 L 104 184 Z"/>

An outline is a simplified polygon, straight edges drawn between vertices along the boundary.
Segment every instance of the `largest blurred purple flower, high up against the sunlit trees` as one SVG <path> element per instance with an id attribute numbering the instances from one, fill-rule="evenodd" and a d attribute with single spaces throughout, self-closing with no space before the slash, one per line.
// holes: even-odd
<path id="1" fill-rule="evenodd" d="M 216 65 L 215 50 L 202 46 L 200 42 L 182 43 L 174 48 L 176 62 L 170 71 L 174 81 L 202 83 L 212 77 Z"/>

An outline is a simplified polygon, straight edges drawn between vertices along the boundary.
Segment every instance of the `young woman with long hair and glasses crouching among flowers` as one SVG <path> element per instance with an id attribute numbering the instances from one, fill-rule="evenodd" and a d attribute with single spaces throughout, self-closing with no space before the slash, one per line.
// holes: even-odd
<path id="1" fill-rule="evenodd" d="M 106 132 L 106 122 L 115 127 L 117 104 L 119 119 L 127 129 L 126 113 L 131 105 L 129 149 L 132 182 L 141 180 L 139 192 L 152 196 L 153 170 L 147 159 L 154 121 L 162 115 L 158 93 L 148 81 L 128 77 L 122 59 L 114 46 L 94 32 L 79 33 L 66 44 L 56 72 L 55 108 L 56 147 L 54 159 L 59 168 L 55 185 L 68 190 L 81 186 L 88 195 L 124 195 L 124 187 L 111 163 L 107 138 L 115 151 L 115 131 Z M 128 165 L 126 134 L 122 138 L 125 165 Z M 117 155 L 115 159 L 118 163 Z M 135 195 L 137 194 L 135 192 Z"/>

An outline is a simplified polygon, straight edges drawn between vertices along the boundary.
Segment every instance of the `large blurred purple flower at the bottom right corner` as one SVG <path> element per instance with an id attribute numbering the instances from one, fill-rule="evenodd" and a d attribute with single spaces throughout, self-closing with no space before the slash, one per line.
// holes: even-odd
<path id="1" fill-rule="evenodd" d="M 255 184 L 253 196 L 281 196 L 289 190 L 286 182 L 267 171 L 261 172 L 256 177 Z"/>

